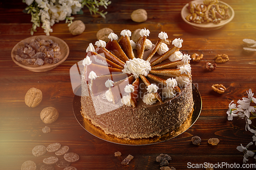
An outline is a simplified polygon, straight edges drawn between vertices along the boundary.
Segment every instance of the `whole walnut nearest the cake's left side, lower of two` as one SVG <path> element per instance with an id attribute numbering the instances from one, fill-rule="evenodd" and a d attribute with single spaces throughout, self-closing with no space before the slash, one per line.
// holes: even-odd
<path id="1" fill-rule="evenodd" d="M 54 123 L 58 117 L 59 117 L 59 113 L 57 109 L 51 106 L 42 109 L 40 113 L 40 118 L 42 122 L 44 122 L 45 124 Z"/>

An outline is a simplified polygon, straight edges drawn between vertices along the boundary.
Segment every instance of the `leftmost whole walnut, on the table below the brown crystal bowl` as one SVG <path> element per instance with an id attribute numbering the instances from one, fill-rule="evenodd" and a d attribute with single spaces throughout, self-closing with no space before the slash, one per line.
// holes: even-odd
<path id="1" fill-rule="evenodd" d="M 41 90 L 32 87 L 29 89 L 25 95 L 25 103 L 29 107 L 36 107 L 42 101 L 42 92 Z"/>

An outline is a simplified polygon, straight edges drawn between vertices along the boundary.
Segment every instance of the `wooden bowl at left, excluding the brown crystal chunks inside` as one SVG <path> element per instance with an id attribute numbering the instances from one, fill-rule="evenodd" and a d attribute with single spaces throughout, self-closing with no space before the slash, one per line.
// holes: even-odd
<path id="1" fill-rule="evenodd" d="M 20 46 L 24 47 L 24 42 L 29 43 L 31 39 L 35 39 L 35 38 L 40 38 L 40 39 L 44 39 L 44 40 L 51 39 L 51 40 L 53 40 L 53 42 L 56 42 L 56 43 L 59 44 L 61 55 L 58 57 L 59 58 L 58 63 L 56 63 L 56 64 L 45 63 L 42 66 L 35 66 L 35 65 L 23 64 L 23 63 L 20 63 L 20 62 L 16 61 L 15 56 L 16 56 L 17 48 L 20 47 Z M 22 41 L 19 41 L 12 48 L 12 52 L 11 52 L 11 57 L 12 57 L 12 60 L 15 64 L 17 64 L 20 67 L 26 68 L 30 71 L 34 71 L 34 72 L 43 72 L 43 71 L 51 70 L 51 69 L 57 67 L 62 62 L 64 62 L 68 58 L 68 56 L 69 56 L 69 46 L 65 41 L 63 41 L 60 38 L 54 37 L 54 36 L 46 36 L 46 35 L 32 36 L 32 37 L 26 38 Z"/>

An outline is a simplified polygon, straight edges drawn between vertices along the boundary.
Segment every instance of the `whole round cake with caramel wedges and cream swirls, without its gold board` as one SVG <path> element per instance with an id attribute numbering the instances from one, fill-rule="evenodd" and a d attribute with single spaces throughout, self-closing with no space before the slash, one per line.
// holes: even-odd
<path id="1" fill-rule="evenodd" d="M 165 32 L 153 44 L 142 29 L 135 43 L 131 31 L 90 43 L 83 60 L 81 114 L 106 134 L 119 138 L 161 136 L 182 125 L 193 112 L 190 56 L 172 47 Z"/>

